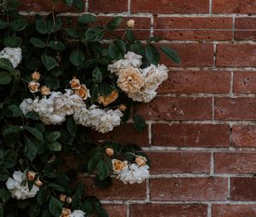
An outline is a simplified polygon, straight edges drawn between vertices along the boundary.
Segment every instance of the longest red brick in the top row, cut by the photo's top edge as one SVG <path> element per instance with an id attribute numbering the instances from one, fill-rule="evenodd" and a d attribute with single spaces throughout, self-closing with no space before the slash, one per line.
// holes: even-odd
<path id="1" fill-rule="evenodd" d="M 207 0 L 131 0 L 131 12 L 151 12 L 167 14 L 208 13 Z"/>

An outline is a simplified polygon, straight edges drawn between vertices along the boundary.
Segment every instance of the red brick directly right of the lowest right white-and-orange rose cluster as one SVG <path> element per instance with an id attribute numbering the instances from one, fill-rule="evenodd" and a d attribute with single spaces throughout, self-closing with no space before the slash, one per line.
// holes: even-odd
<path id="1" fill-rule="evenodd" d="M 209 173 L 211 154 L 206 152 L 150 152 L 150 174 Z"/>

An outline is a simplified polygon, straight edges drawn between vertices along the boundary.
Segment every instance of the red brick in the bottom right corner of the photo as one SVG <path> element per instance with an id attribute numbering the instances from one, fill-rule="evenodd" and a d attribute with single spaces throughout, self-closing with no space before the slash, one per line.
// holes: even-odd
<path id="1" fill-rule="evenodd" d="M 255 217 L 256 205 L 213 204 L 212 217 Z"/>

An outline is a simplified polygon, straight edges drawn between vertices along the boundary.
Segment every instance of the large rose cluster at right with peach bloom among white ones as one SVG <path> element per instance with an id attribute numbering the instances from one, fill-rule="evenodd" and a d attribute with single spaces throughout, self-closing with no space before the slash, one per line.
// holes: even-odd
<path id="1" fill-rule="evenodd" d="M 143 56 L 128 52 L 125 59 L 108 65 L 108 71 L 118 77 L 117 84 L 128 97 L 135 101 L 149 102 L 153 100 L 160 83 L 168 77 L 168 69 L 164 65 L 142 66 Z"/>

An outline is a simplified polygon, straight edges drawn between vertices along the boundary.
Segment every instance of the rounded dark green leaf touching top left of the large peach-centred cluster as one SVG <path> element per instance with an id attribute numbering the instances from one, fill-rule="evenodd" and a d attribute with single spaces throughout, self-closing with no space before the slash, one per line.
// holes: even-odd
<path id="1" fill-rule="evenodd" d="M 122 40 L 113 41 L 109 44 L 108 54 L 113 60 L 123 59 L 125 56 L 126 48 L 125 43 Z"/>

